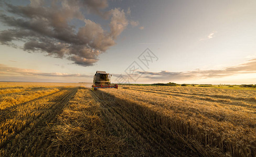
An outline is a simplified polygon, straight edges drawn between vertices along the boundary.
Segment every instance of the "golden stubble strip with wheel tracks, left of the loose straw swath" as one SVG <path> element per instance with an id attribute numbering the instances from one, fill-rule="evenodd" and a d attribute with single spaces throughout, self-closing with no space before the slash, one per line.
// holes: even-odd
<path id="1" fill-rule="evenodd" d="M 61 113 L 62 108 L 76 94 L 77 89 L 78 87 L 63 88 L 59 92 L 1 110 L 3 113 L 0 124 L 2 155 L 18 155 L 13 152 L 22 155 L 27 155 L 26 152 L 30 152 L 31 155 L 31 152 L 38 152 L 35 150 L 35 144 L 43 144 L 47 137 L 44 127 Z"/>

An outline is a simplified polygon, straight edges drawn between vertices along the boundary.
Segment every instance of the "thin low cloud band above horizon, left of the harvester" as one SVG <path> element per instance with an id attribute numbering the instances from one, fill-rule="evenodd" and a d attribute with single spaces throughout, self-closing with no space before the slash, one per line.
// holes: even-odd
<path id="1" fill-rule="evenodd" d="M 84 74 L 68 74 L 68 73 L 42 73 L 38 70 L 33 69 L 20 69 L 9 67 L 4 64 L 0 64 L 1 75 L 22 75 L 22 76 L 48 76 L 48 77 L 91 77 L 91 75 Z"/>

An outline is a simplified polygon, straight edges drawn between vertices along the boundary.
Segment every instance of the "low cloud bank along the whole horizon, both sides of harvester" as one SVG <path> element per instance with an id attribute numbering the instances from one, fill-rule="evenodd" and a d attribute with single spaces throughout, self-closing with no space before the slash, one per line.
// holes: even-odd
<path id="1" fill-rule="evenodd" d="M 169 80 L 169 81 L 182 81 L 182 80 L 201 80 L 204 78 L 222 78 L 226 76 L 232 76 L 236 74 L 252 74 L 256 73 L 256 59 L 252 59 L 246 63 L 239 64 L 236 66 L 228 66 L 219 70 L 194 70 L 187 72 L 169 72 L 169 71 L 160 71 L 160 72 L 149 72 L 149 71 L 137 71 L 134 74 L 134 77 L 140 76 L 141 81 L 150 80 L 152 82 Z M 69 74 L 69 73 L 43 73 L 33 69 L 20 69 L 9 67 L 4 64 L 0 64 L 0 77 L 3 76 L 12 76 L 18 77 L 22 76 L 31 76 L 34 80 L 37 78 L 67 78 L 67 77 L 77 77 L 77 78 L 92 78 L 92 75 L 87 74 Z M 42 77 L 43 76 L 43 77 Z M 112 74 L 114 77 L 119 77 L 120 74 Z M 129 76 L 122 74 L 124 78 Z"/>

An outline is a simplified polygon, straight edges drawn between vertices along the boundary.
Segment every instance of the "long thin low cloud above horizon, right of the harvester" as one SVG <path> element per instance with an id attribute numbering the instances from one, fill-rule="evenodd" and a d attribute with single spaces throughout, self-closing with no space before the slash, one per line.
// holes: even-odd
<path id="1" fill-rule="evenodd" d="M 249 62 L 239 64 L 237 66 L 229 66 L 221 70 L 195 70 L 188 72 L 137 72 L 143 74 L 144 78 L 151 80 L 185 80 L 185 79 L 200 79 L 200 78 L 220 78 L 231 76 L 234 74 L 249 74 L 256 73 L 256 59 Z"/>

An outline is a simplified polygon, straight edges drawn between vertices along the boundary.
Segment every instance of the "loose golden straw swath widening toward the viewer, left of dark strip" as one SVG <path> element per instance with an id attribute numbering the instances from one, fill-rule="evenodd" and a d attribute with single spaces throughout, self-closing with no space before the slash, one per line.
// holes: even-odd
<path id="1" fill-rule="evenodd" d="M 90 89 L 80 88 L 50 127 L 47 155 L 115 156 L 121 155 L 124 146 L 102 119 L 100 104 Z"/>

